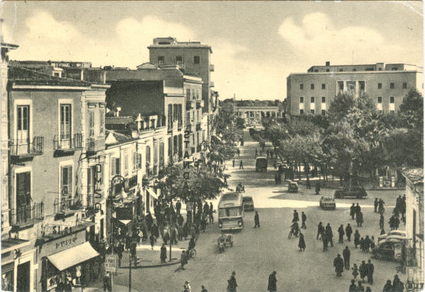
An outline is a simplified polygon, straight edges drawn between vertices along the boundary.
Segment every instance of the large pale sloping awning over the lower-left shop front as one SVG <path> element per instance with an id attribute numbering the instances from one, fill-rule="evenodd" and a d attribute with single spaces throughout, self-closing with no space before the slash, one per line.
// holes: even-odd
<path id="1" fill-rule="evenodd" d="M 47 259 L 57 267 L 60 271 L 73 267 L 80 262 L 85 262 L 88 259 L 97 257 L 99 254 L 91 247 L 89 242 L 71 247 L 62 252 L 57 252 L 55 255 L 49 255 Z"/>

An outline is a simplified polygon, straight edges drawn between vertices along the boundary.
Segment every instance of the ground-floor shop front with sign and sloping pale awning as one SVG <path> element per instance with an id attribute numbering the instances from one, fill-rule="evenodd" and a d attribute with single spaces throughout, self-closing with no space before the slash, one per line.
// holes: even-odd
<path id="1" fill-rule="evenodd" d="M 66 235 L 43 238 L 40 254 L 40 291 L 55 291 L 58 286 L 89 286 L 101 279 L 103 259 L 89 243 L 93 223 L 75 226 Z"/>

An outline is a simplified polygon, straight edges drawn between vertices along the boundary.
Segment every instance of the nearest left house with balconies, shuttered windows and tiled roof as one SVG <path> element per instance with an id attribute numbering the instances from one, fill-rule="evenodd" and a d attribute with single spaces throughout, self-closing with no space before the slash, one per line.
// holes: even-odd
<path id="1" fill-rule="evenodd" d="M 7 88 L 11 235 L 33 247 L 29 261 L 17 267 L 29 281 L 15 281 L 15 289 L 46 291 L 98 255 L 90 244 L 98 232 L 86 175 L 89 156 L 98 165 L 105 147 L 108 86 L 10 66 Z M 58 260 L 74 254 L 67 262 Z"/>

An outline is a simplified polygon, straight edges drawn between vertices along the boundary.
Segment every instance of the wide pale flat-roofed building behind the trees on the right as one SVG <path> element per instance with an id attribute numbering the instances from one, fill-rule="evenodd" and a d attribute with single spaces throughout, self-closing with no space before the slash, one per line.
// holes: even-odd
<path id="1" fill-rule="evenodd" d="M 410 88 L 423 92 L 422 69 L 408 64 L 312 66 L 287 78 L 290 115 L 326 115 L 339 93 L 367 94 L 381 112 L 395 112 Z"/>

